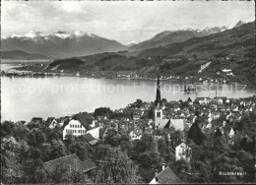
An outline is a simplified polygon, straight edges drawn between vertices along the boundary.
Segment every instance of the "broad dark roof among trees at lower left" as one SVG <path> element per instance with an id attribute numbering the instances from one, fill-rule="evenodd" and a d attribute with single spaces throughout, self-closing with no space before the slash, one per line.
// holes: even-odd
<path id="1" fill-rule="evenodd" d="M 90 171 L 96 168 L 95 162 L 92 160 L 82 161 L 79 159 L 77 154 L 70 154 L 66 156 L 62 156 L 53 160 L 49 160 L 47 162 L 43 162 L 44 169 L 54 170 L 58 165 L 62 165 L 66 169 L 70 169 L 73 166 L 78 167 L 79 170 L 83 172 Z"/>

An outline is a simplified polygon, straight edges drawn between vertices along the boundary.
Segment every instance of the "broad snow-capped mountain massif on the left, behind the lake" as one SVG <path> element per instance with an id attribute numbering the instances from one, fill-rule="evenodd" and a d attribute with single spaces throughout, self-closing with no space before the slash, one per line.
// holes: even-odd
<path id="1" fill-rule="evenodd" d="M 51 58 L 63 58 L 120 51 L 126 46 L 121 43 L 84 31 L 56 31 L 42 33 L 30 31 L 25 34 L 2 36 L 2 50 L 23 50 Z"/>

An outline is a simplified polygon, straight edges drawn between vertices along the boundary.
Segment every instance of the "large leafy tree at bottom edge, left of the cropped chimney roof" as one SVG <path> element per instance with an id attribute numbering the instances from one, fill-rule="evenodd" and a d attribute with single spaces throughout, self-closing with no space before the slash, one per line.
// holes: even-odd
<path id="1" fill-rule="evenodd" d="M 138 166 L 133 163 L 126 152 L 109 149 L 94 171 L 96 183 L 138 183 Z"/>

